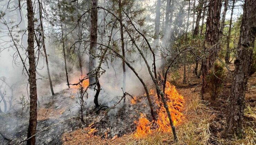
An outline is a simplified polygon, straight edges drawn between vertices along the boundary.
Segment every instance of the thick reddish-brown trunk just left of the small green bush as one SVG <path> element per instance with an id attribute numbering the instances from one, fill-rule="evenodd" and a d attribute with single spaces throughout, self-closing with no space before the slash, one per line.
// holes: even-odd
<path id="1" fill-rule="evenodd" d="M 201 88 L 201 98 L 205 93 L 206 87 L 206 75 L 208 70 L 212 67 L 216 60 L 219 49 L 219 21 L 220 21 L 220 11 L 221 11 L 221 0 L 210 0 L 208 8 L 208 16 L 206 21 L 206 33 L 204 39 L 204 54 L 210 54 L 206 60 L 202 61 L 202 88 Z M 212 98 L 213 99 L 213 98 Z"/>

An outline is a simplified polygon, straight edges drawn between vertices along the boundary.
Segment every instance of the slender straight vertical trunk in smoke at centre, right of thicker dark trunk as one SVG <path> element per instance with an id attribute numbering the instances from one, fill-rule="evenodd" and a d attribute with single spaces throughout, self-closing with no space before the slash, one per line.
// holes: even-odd
<path id="1" fill-rule="evenodd" d="M 119 21 L 122 22 L 122 1 L 119 0 L 118 2 L 118 7 L 119 7 Z M 123 26 L 121 25 L 121 22 L 120 22 L 120 33 L 121 33 L 121 45 L 122 45 L 122 57 L 124 57 L 122 59 L 122 67 L 123 67 L 123 90 L 125 91 L 126 90 L 126 72 L 125 72 L 125 41 L 124 41 L 124 28 Z"/>

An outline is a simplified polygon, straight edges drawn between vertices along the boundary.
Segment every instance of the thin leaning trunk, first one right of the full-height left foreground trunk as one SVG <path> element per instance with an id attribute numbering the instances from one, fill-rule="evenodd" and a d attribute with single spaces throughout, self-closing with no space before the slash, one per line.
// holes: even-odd
<path id="1" fill-rule="evenodd" d="M 47 67 L 47 74 L 48 74 L 48 78 L 49 78 L 51 92 L 52 92 L 52 95 L 54 95 L 53 83 L 52 83 L 52 79 L 51 79 L 51 74 L 50 74 L 49 64 L 48 64 L 48 57 L 47 57 L 46 48 L 45 48 L 44 27 L 43 27 L 43 19 L 42 19 L 42 4 L 39 0 L 38 0 L 38 5 L 39 5 L 39 19 L 40 19 L 40 27 L 41 27 L 41 33 L 42 33 L 43 50 L 44 50 L 44 54 L 45 54 L 45 61 L 46 61 L 46 67 Z"/>

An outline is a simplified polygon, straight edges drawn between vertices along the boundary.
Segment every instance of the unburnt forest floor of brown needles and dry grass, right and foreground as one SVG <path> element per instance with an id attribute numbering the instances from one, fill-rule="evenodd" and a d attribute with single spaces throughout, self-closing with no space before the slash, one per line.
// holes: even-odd
<path id="1" fill-rule="evenodd" d="M 234 65 L 229 65 L 234 70 Z M 183 77 L 178 79 L 169 74 L 168 80 L 175 80 L 177 91 L 184 97 L 185 104 L 182 111 L 184 120 L 176 126 L 179 144 L 255 144 L 256 138 L 256 73 L 250 76 L 245 95 L 246 107 L 244 113 L 245 137 L 243 139 L 224 139 L 222 133 L 225 129 L 225 116 L 227 113 L 227 103 L 231 88 L 231 72 L 226 69 L 226 80 L 220 95 L 214 102 L 208 101 L 210 94 L 205 94 L 205 101 L 200 100 L 201 79 L 196 78 L 192 73 L 192 68 L 188 72 L 187 83 L 182 84 Z M 179 69 L 179 74 L 183 74 Z M 87 131 L 86 131 L 87 129 Z M 73 132 L 63 134 L 64 145 L 76 144 L 102 144 L 102 145 L 123 145 L 123 144 L 174 144 L 172 133 L 161 133 L 152 130 L 146 137 L 137 138 L 134 133 L 125 134 L 112 139 L 102 139 L 97 135 L 88 134 L 88 128 L 77 129 Z"/>

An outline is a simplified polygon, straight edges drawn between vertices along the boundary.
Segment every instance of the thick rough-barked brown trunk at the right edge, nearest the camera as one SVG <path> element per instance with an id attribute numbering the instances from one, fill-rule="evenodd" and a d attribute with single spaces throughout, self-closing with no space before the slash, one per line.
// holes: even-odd
<path id="1" fill-rule="evenodd" d="M 227 126 L 225 135 L 234 133 L 241 138 L 244 134 L 243 116 L 245 91 L 252 65 L 253 48 L 256 36 L 256 0 L 245 0 L 244 13 L 238 42 L 238 56 L 235 60 L 235 72 L 230 89 Z"/>

